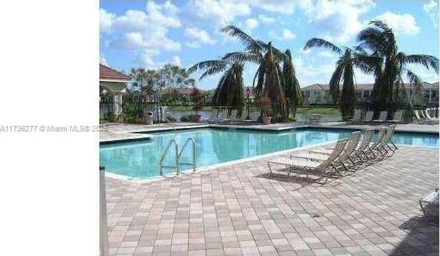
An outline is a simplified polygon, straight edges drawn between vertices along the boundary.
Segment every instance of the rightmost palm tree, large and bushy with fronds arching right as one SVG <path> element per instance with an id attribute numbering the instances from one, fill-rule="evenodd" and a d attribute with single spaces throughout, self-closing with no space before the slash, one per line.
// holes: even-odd
<path id="1" fill-rule="evenodd" d="M 390 103 L 406 96 L 403 76 L 415 86 L 416 92 L 421 92 L 421 78 L 406 65 L 417 63 L 438 73 L 439 59 L 425 54 L 399 52 L 395 34 L 386 23 L 375 20 L 369 25 L 358 34 L 359 49 L 363 52 L 366 67 L 364 71 L 375 76 L 372 97 L 377 110 L 392 111 Z"/>

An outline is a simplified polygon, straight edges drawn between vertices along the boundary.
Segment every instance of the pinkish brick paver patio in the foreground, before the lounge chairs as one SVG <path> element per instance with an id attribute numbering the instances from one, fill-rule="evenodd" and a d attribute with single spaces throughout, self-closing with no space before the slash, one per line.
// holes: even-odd
<path id="1" fill-rule="evenodd" d="M 439 226 L 418 204 L 438 185 L 438 149 L 401 147 L 327 184 L 271 178 L 267 159 L 107 178 L 111 255 L 439 255 Z"/>

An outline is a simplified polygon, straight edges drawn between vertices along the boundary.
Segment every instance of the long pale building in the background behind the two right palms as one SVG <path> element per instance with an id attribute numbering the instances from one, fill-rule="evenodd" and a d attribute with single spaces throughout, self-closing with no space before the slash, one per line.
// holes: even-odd
<path id="1" fill-rule="evenodd" d="M 373 84 L 358 84 L 355 85 L 356 98 L 358 102 L 368 101 L 373 91 Z M 422 96 L 417 95 L 414 85 L 410 83 L 404 84 L 406 95 L 411 99 L 412 103 L 419 105 L 423 103 L 425 98 L 426 103 L 439 103 L 439 82 L 437 83 L 421 83 Z M 329 85 L 313 84 L 301 88 L 304 95 L 305 105 L 329 105 L 332 104 Z M 342 91 L 342 85 L 340 85 Z"/>

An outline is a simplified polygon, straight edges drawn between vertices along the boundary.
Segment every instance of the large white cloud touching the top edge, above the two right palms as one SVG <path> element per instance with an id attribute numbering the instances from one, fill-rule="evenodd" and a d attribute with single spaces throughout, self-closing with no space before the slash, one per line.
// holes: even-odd
<path id="1" fill-rule="evenodd" d="M 318 36 L 336 43 L 347 42 L 362 30 L 364 24 L 359 21 L 360 14 L 374 7 L 373 0 L 322 0 L 315 5 L 307 3 L 303 6 Z"/>

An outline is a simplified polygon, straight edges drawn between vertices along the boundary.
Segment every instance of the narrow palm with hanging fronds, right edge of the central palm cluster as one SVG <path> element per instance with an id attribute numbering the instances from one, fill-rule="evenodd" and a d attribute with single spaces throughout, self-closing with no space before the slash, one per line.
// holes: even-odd
<path id="1" fill-rule="evenodd" d="M 292 54 L 287 49 L 285 54 L 287 55 L 283 62 L 283 80 L 284 80 L 284 94 L 289 98 L 289 103 L 292 107 L 292 116 L 295 117 L 296 106 L 300 105 L 303 101 L 303 94 L 301 94 L 300 83 L 296 78 L 296 72 L 294 64 L 292 63 Z"/>

